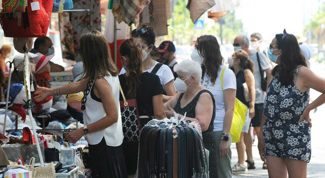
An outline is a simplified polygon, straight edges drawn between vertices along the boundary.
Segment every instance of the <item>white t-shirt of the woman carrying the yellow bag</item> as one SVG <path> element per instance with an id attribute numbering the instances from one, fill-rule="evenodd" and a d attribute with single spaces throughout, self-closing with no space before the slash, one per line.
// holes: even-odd
<path id="1" fill-rule="evenodd" d="M 225 98 L 221 88 L 220 77 L 222 70 L 226 68 L 226 66 L 221 65 L 220 70 L 218 71 L 218 77 L 215 83 L 212 83 L 210 77 L 205 73 L 203 79 L 201 80 L 201 85 L 203 85 L 207 90 L 209 90 L 215 100 L 215 118 L 214 118 L 214 129 L 213 131 L 222 131 L 223 130 L 223 122 L 225 118 Z M 226 69 L 223 75 L 223 88 L 227 90 L 237 89 L 236 84 L 236 76 L 231 69 Z"/>

